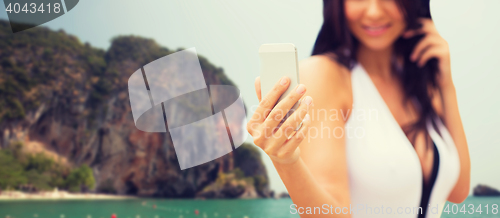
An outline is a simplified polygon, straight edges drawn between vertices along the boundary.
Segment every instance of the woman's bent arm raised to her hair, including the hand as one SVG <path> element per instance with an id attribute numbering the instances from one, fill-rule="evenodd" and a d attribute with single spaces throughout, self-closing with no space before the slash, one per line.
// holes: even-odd
<path id="1" fill-rule="evenodd" d="M 409 38 L 418 34 L 425 37 L 415 46 L 410 57 L 418 66 L 424 66 L 431 58 L 439 60 L 438 85 L 440 92 L 434 95 L 433 104 L 438 115 L 450 132 L 460 158 L 460 175 L 458 181 L 448 196 L 448 201 L 453 203 L 463 202 L 470 190 L 470 157 L 467 139 L 465 138 L 462 119 L 458 112 L 458 101 L 455 86 L 451 77 L 450 49 L 448 42 L 437 32 L 430 19 L 422 19 L 422 28 L 417 31 L 408 31 L 403 37 Z"/>

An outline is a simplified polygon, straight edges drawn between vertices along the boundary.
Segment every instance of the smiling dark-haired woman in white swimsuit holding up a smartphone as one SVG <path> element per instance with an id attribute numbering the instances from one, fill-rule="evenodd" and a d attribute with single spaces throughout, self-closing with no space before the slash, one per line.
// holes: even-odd
<path id="1" fill-rule="evenodd" d="M 287 187 L 290 212 L 438 217 L 446 201 L 464 201 L 469 152 L 429 1 L 323 2 L 302 84 L 276 104 L 289 79 L 261 98 L 257 78 L 260 103 L 247 125 Z"/>

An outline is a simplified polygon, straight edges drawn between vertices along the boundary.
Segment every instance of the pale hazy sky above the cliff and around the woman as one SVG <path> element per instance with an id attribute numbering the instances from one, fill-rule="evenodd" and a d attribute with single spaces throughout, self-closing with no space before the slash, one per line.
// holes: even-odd
<path id="1" fill-rule="evenodd" d="M 435 25 L 450 45 L 452 75 L 477 184 L 500 189 L 500 1 L 431 0 Z M 0 19 L 6 19 L 1 4 Z M 322 24 L 321 0 L 82 0 L 44 26 L 63 29 L 106 49 L 119 35 L 156 40 L 170 49 L 195 47 L 222 67 L 248 109 L 258 104 L 258 48 L 294 43 L 299 60 L 310 56 Z M 253 111 L 248 111 L 251 115 Z M 247 139 L 252 142 L 251 136 Z M 286 191 L 262 153 L 271 188 Z"/>

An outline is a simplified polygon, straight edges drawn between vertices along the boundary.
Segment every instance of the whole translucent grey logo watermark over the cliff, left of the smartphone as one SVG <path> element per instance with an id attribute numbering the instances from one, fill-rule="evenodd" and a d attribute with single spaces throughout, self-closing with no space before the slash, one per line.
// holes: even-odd
<path id="1" fill-rule="evenodd" d="M 169 132 L 181 170 L 219 158 L 247 137 L 239 90 L 207 84 L 195 48 L 138 69 L 128 90 L 136 127 Z"/>

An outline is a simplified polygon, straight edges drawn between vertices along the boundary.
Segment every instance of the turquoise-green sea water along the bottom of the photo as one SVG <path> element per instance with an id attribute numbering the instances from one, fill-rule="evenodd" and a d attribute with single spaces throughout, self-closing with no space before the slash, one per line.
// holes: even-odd
<path id="1" fill-rule="evenodd" d="M 4 200 L 0 201 L 0 218 L 110 218 L 112 214 L 117 218 L 299 217 L 291 214 L 291 204 L 290 199 Z M 498 197 L 469 197 L 457 206 L 448 204 L 450 212 L 443 212 L 443 218 L 500 217 L 498 208 L 493 210 L 494 204 L 500 205 Z M 480 204 L 481 214 L 477 210 Z M 460 211 L 463 205 L 465 214 Z M 475 208 L 472 214 L 471 205 Z"/>

